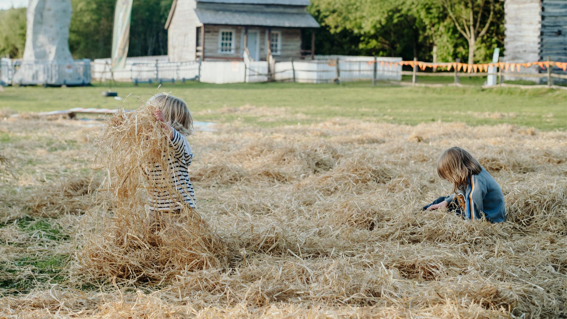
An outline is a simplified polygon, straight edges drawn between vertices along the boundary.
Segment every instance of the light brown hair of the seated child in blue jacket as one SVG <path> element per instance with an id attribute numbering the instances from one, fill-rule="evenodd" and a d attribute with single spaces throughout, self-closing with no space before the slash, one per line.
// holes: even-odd
<path id="1" fill-rule="evenodd" d="M 437 160 L 437 174 L 442 179 L 453 183 L 453 191 L 464 190 L 470 175 L 479 174 L 483 170 L 479 161 L 471 153 L 454 146 L 445 150 Z"/>

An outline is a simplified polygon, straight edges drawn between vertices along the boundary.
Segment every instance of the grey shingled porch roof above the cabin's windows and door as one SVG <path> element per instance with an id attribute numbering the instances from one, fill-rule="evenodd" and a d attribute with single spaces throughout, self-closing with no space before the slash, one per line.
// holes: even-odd
<path id="1" fill-rule="evenodd" d="M 280 12 L 220 11 L 195 9 L 195 13 L 197 14 L 200 22 L 205 24 L 231 24 L 234 26 L 270 26 L 296 28 L 319 27 L 319 23 L 317 23 L 315 18 L 313 18 L 307 12 L 297 14 Z"/>

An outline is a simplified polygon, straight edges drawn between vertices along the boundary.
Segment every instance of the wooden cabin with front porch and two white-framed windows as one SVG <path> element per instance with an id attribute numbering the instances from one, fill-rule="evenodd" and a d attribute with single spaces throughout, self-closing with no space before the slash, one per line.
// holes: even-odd
<path id="1" fill-rule="evenodd" d="M 315 54 L 309 0 L 174 0 L 165 28 L 171 62 L 289 61 Z M 311 30 L 311 39 L 303 39 Z M 308 47 L 305 52 L 302 47 Z M 246 46 L 244 45 L 246 43 Z"/>

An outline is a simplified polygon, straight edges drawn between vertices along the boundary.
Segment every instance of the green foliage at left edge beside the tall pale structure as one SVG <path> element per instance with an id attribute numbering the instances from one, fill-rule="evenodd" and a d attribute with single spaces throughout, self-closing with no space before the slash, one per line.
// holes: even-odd
<path id="1" fill-rule="evenodd" d="M 26 8 L 0 10 L 0 57 L 22 57 L 26 45 Z"/>

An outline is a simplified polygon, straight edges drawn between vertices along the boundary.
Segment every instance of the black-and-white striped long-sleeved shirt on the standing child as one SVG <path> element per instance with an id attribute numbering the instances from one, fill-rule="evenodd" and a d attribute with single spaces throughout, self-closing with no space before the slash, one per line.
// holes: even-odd
<path id="1" fill-rule="evenodd" d="M 162 167 L 154 163 L 154 168 L 149 171 L 150 200 L 149 206 L 152 211 L 173 211 L 183 207 L 196 207 L 193 185 L 189 180 L 189 165 L 193 161 L 191 145 L 187 139 L 173 129 L 173 137 L 170 146 L 174 150 L 174 157 L 168 158 L 170 176 L 164 177 Z M 177 192 L 170 194 L 168 189 L 176 188 Z"/>

